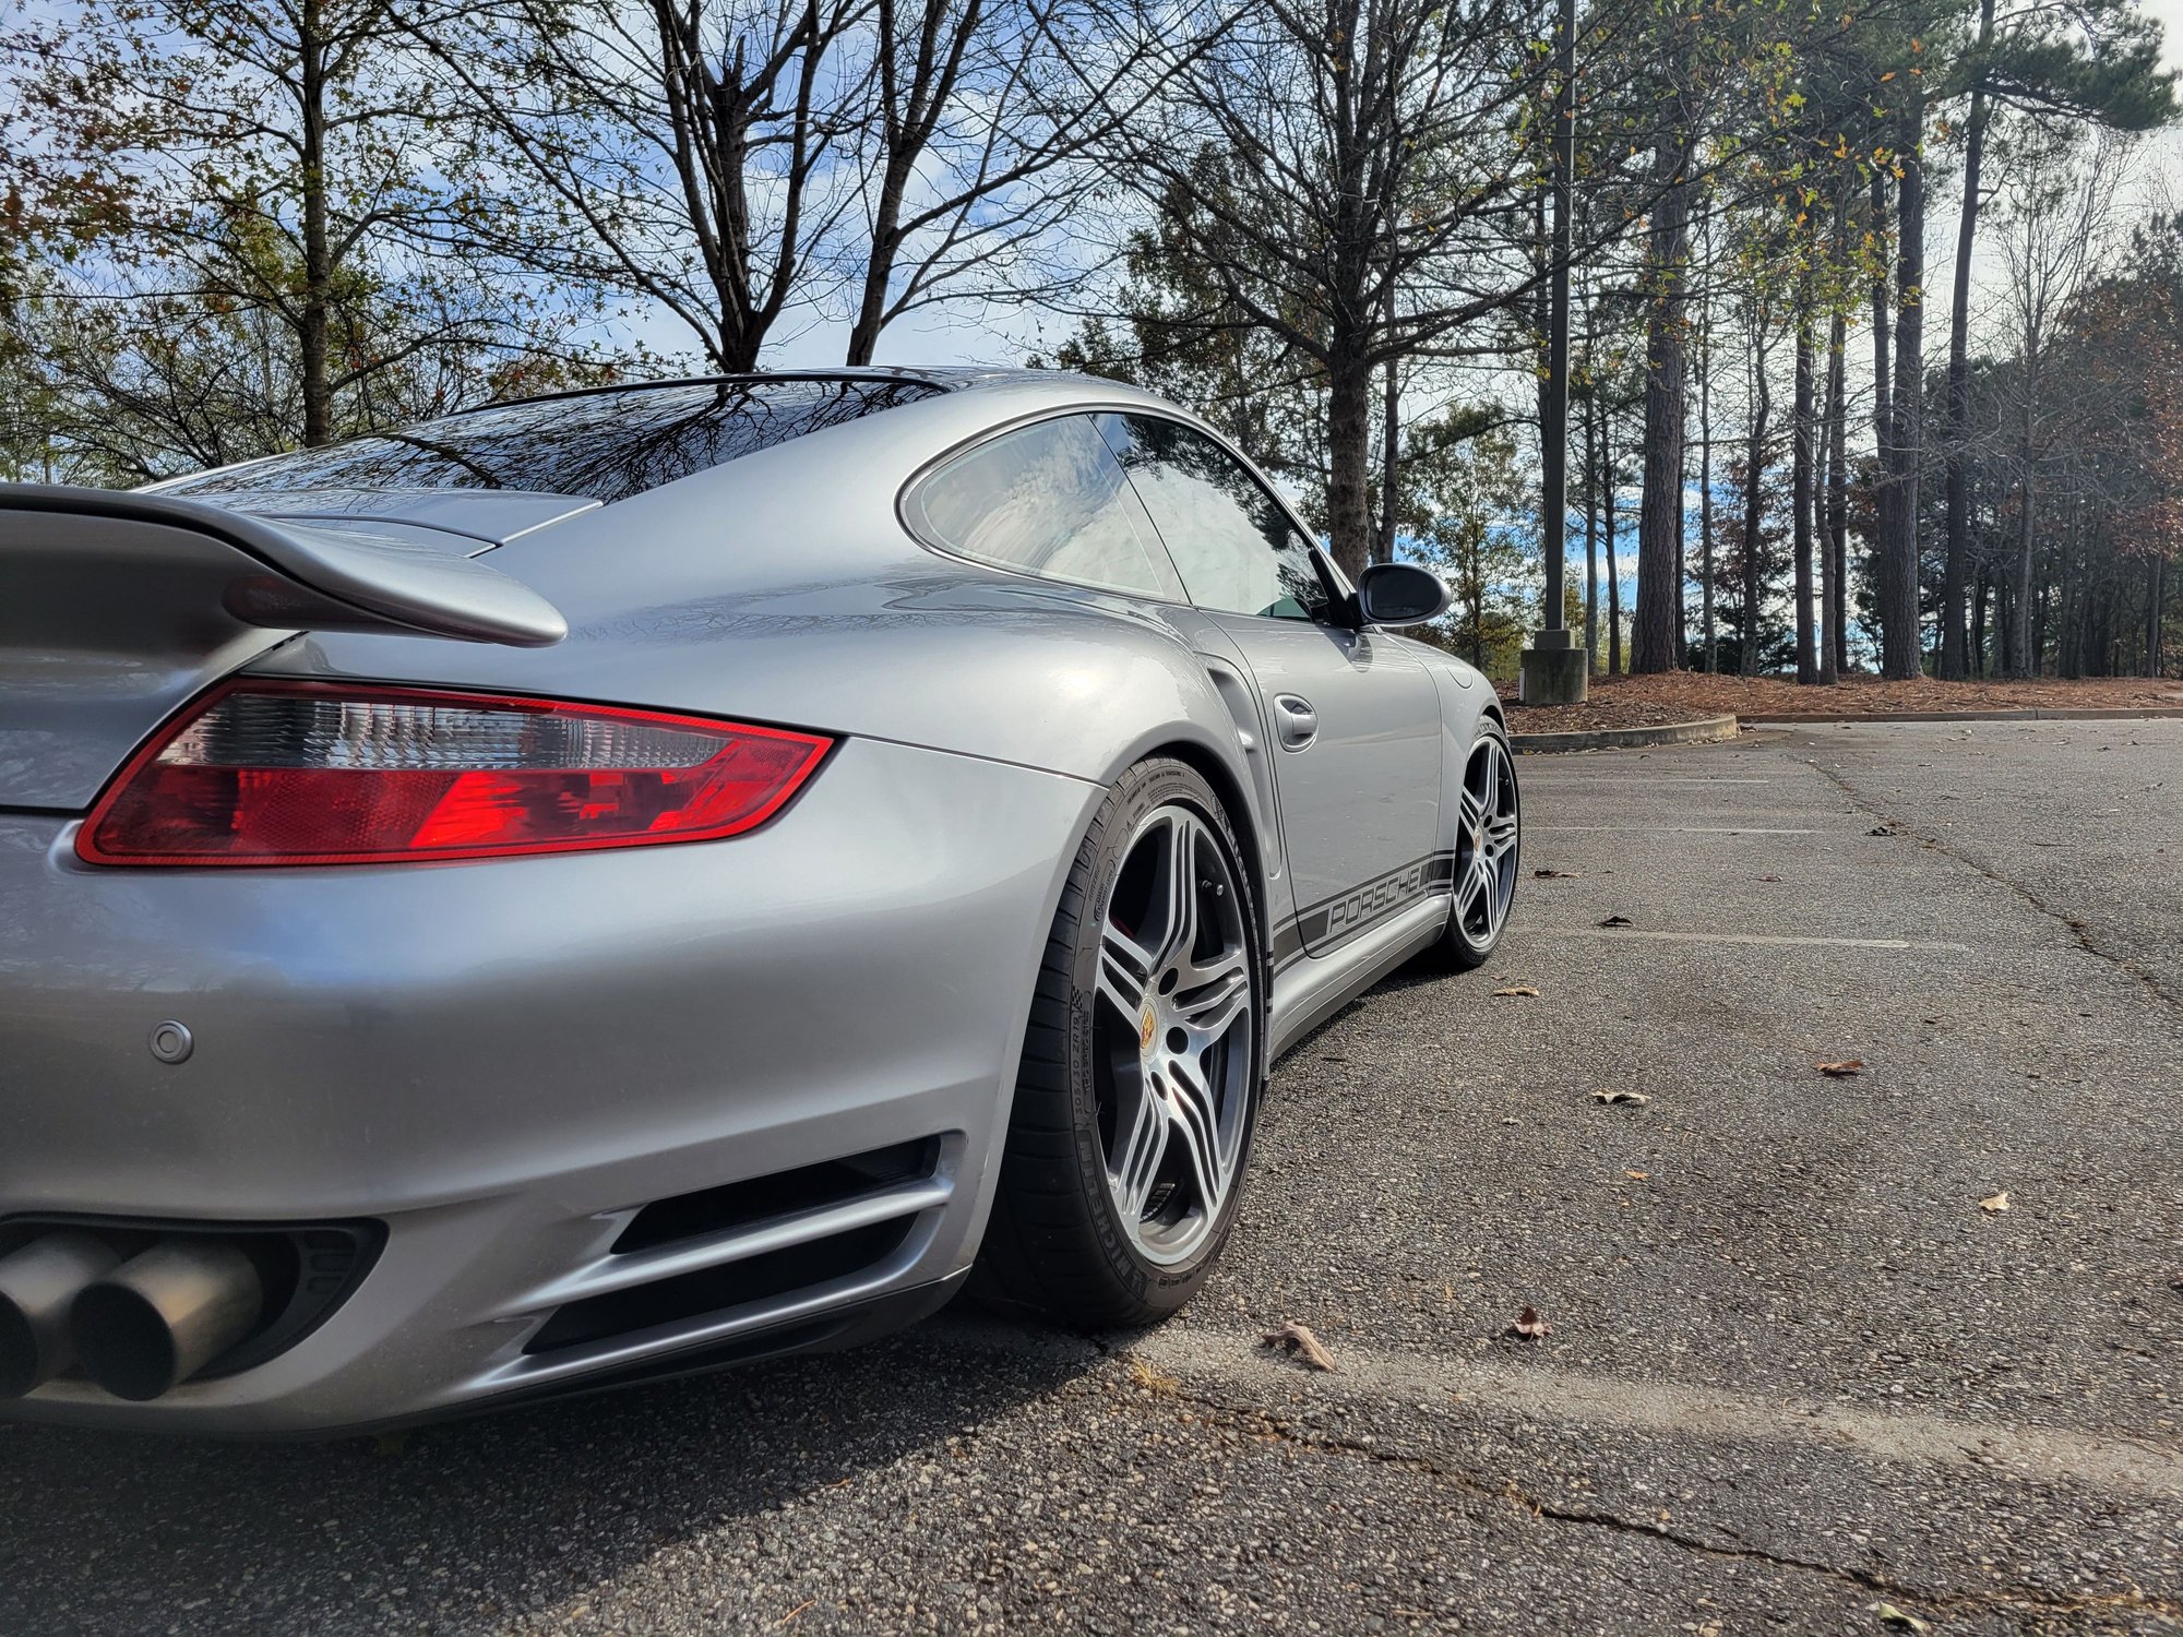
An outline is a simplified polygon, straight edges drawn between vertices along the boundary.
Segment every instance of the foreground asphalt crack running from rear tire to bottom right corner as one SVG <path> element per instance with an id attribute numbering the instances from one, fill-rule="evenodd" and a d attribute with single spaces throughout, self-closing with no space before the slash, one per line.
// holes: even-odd
<path id="1" fill-rule="evenodd" d="M 1105 1342 L 1100 1342 L 1100 1351 L 1107 1353 L 1109 1358 L 1124 1358 L 1124 1353 L 1109 1349 Z M 1508 1480 L 1506 1484 L 1495 1489 L 1491 1482 L 1474 1473 L 1467 1473 L 1463 1469 L 1447 1467 L 1439 1460 L 1432 1460 L 1430 1456 L 1401 1449 L 1382 1449 L 1373 1443 L 1343 1438 L 1340 1434 L 1323 1432 L 1316 1427 L 1299 1427 L 1295 1421 L 1284 1421 L 1279 1417 L 1273 1417 L 1257 1406 L 1229 1403 L 1203 1390 L 1185 1388 L 1179 1382 L 1174 1382 L 1172 1386 L 1166 1384 L 1148 1386 L 1146 1393 L 1150 1393 L 1153 1397 L 1177 1399 L 1181 1403 L 1194 1403 L 1201 1410 L 1212 1410 L 1214 1414 L 1229 1417 L 1233 1423 L 1246 1430 L 1249 1427 L 1264 1430 L 1266 1436 L 1299 1449 L 1362 1456 L 1367 1460 L 1377 1460 L 1388 1467 L 1401 1467 L 1404 1471 L 1423 1473 L 1428 1478 L 1454 1484 L 1456 1489 L 1487 1502 L 1511 1502 L 1528 1510 L 1532 1517 L 1543 1517 L 1552 1524 L 1578 1524 L 1585 1528 L 1607 1528 L 1622 1534 L 1642 1534 L 1701 1556 L 1733 1558 L 1742 1563 L 1766 1563 L 1779 1569 L 1799 1569 L 1805 1574 L 1818 1574 L 1829 1580 L 1858 1587 L 1860 1591 L 1886 1593 L 1888 1598 L 1901 1598 L 1906 1602 L 1921 1604 L 1936 1613 L 1945 1613 L 1952 1609 L 1954 1611 L 2035 1609 L 2039 1613 L 2061 1613 L 2061 1615 L 2128 1611 L 2128 1613 L 2155 1615 L 2163 1622 L 2183 1626 L 2183 1602 L 2172 1602 L 2166 1598 L 2148 1598 L 2137 1587 L 2131 1587 L 2131 1591 L 2098 1593 L 2083 1598 L 2054 1596 L 2037 1587 L 2011 1587 L 2006 1591 L 1912 1587 L 1904 1580 L 1893 1580 L 1884 1574 L 1873 1574 L 1871 1569 L 1856 1569 L 1838 1563 L 1825 1563 L 1821 1558 L 1801 1558 L 1784 1552 L 1768 1552 L 1766 1548 L 1757 1545 L 1725 1545 L 1720 1541 L 1707 1541 L 1703 1537 L 1687 1534 L 1683 1530 L 1674 1530 L 1657 1521 L 1644 1521 L 1635 1517 L 1622 1517 L 1620 1513 L 1605 1513 L 1580 1506 L 1563 1506 L 1556 1502 L 1541 1499 L 1539 1495 L 1532 1495 L 1530 1491 L 1522 1489 L 1515 1480 Z"/>

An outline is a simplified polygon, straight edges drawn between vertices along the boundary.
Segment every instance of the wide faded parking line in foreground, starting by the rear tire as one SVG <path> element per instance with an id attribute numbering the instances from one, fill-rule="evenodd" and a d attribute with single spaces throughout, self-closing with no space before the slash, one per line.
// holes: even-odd
<path id="1" fill-rule="evenodd" d="M 1268 1390 L 1279 1388 L 1290 1399 L 1360 1395 L 1447 1414 L 1476 1403 L 1561 1421 L 1576 1436 L 1585 1427 L 1609 1425 L 1668 1436 L 1759 1438 L 1866 1460 L 2000 1469 L 2041 1482 L 2183 1497 L 2183 1454 L 2128 1438 L 2006 1421 L 1882 1414 L 1840 1399 L 1762 1397 L 1659 1377 L 1622 1379 L 1559 1366 L 1495 1369 L 1358 1347 L 1338 1336 L 1321 1340 L 1334 1351 L 1338 1375 L 1305 1375 L 1281 1364 L 1257 1347 L 1255 1334 L 1188 1323 L 1137 1336 L 1124 1351 L 1183 1382 L 1240 1390 L 1251 1406 L 1266 1403 Z"/>

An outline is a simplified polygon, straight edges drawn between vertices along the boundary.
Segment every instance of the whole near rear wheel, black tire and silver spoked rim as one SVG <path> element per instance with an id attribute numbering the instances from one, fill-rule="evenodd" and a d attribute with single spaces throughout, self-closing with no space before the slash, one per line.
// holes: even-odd
<path id="1" fill-rule="evenodd" d="M 978 1286 L 1085 1329 L 1172 1314 L 1227 1242 L 1264 1078 L 1242 847 L 1196 770 L 1140 762 L 1061 891 Z"/>

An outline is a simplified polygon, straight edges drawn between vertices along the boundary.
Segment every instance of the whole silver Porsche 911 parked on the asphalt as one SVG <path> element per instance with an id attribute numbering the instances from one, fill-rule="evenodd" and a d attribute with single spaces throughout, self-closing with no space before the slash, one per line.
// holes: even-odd
<path id="1" fill-rule="evenodd" d="M 303 1432 L 1205 1279 L 1517 877 L 1484 679 L 1054 373 L 0 487 L 0 1414 Z"/>

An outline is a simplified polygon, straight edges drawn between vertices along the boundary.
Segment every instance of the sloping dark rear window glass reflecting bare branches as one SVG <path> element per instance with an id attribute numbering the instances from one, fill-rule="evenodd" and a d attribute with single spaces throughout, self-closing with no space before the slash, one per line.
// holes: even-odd
<path id="1" fill-rule="evenodd" d="M 162 493 L 530 489 L 611 504 L 939 391 L 915 380 L 784 375 L 574 393 L 277 454 L 183 478 Z"/>

